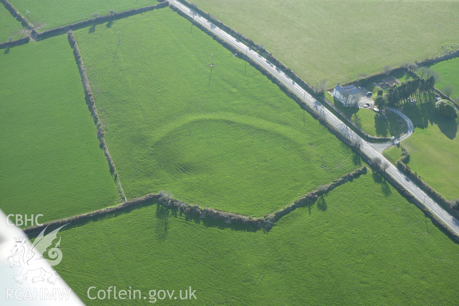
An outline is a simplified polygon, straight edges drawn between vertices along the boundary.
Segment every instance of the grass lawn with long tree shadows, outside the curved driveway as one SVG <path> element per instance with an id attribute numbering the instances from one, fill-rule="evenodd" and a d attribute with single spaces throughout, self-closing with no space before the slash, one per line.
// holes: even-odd
<path id="1" fill-rule="evenodd" d="M 420 95 L 416 100 L 424 104 L 405 105 L 403 113 L 414 124 L 414 133 L 401 144 L 410 153 L 409 167 L 448 200 L 459 198 L 459 119 L 446 119 L 437 114 L 433 95 Z M 396 164 L 401 148 L 383 152 Z"/>

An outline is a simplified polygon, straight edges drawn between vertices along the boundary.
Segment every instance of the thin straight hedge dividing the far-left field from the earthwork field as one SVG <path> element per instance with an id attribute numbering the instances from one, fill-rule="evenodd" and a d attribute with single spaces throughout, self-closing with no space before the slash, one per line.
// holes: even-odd
<path id="1" fill-rule="evenodd" d="M 94 103 L 94 96 L 92 95 L 92 91 L 89 85 L 88 77 L 86 76 L 86 69 L 84 69 L 83 60 L 81 59 L 80 50 L 78 49 L 77 40 L 73 35 L 73 31 L 70 30 L 67 33 L 67 38 L 70 43 L 70 46 L 73 49 L 73 56 L 75 56 L 75 61 L 78 66 L 78 72 L 81 76 L 81 83 L 83 84 L 84 90 L 84 99 L 88 104 L 88 108 L 91 111 L 91 116 L 94 119 L 94 123 L 97 126 L 97 138 L 99 139 L 101 149 L 104 150 L 104 155 L 108 162 L 108 167 L 110 168 L 110 173 L 115 176 L 115 180 L 117 181 L 118 189 L 120 193 L 123 195 L 123 198 L 126 200 L 126 196 L 124 195 L 123 185 L 121 184 L 121 180 L 119 179 L 118 172 L 116 171 L 115 164 L 113 163 L 112 156 L 108 151 L 107 145 L 104 139 L 104 130 L 102 129 L 102 122 L 99 121 L 99 115 L 97 114 L 97 108 L 95 107 Z"/>

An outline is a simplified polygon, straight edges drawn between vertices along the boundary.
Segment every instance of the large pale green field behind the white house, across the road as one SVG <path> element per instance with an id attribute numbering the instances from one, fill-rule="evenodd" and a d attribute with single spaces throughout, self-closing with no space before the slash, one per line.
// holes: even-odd
<path id="1" fill-rule="evenodd" d="M 191 2 L 263 44 L 310 84 L 327 78 L 333 87 L 380 72 L 386 64 L 395 67 L 459 47 L 458 1 Z"/>

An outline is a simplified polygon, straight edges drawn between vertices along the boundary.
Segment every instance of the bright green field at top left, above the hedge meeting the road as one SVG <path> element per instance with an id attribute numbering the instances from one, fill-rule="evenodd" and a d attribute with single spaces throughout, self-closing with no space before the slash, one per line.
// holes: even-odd
<path id="1" fill-rule="evenodd" d="M 42 26 L 39 31 L 92 18 L 93 13 L 99 13 L 102 16 L 108 14 L 110 10 L 119 12 L 157 4 L 156 0 L 81 0 L 73 2 L 68 0 L 11 0 L 10 2 L 23 16 L 26 16 L 26 10 L 30 11 L 29 21 Z"/>

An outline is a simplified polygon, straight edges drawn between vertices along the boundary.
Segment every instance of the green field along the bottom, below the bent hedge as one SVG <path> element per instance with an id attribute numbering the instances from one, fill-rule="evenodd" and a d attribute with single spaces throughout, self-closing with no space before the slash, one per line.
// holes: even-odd
<path id="1" fill-rule="evenodd" d="M 268 233 L 185 221 L 152 205 L 60 234 L 56 269 L 87 305 L 102 302 L 87 298 L 90 286 L 132 287 L 147 298 L 150 289 L 178 294 L 191 286 L 196 305 L 457 300 L 459 245 L 371 171 L 281 218 Z"/>

